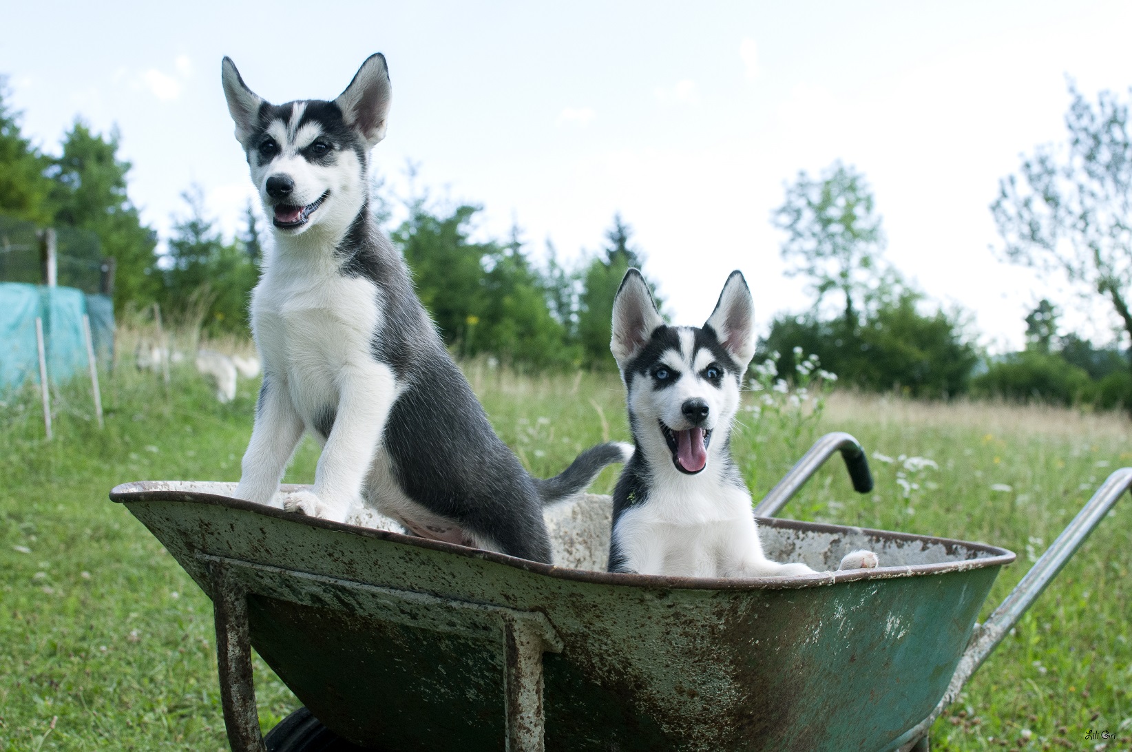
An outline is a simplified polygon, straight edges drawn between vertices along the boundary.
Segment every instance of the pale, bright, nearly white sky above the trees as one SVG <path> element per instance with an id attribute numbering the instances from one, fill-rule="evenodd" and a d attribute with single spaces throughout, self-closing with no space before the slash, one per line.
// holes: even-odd
<path id="1" fill-rule="evenodd" d="M 997 260 L 988 206 L 1023 154 L 1064 139 L 1066 77 L 1132 85 L 1127 2 L 10 3 L 0 74 L 25 134 L 118 128 L 129 193 L 168 234 L 199 185 L 233 232 L 254 195 L 220 61 L 273 102 L 333 99 L 372 52 L 393 82 L 375 152 L 394 189 L 483 206 L 541 258 L 594 253 L 620 213 L 676 323 L 700 324 L 734 268 L 761 327 L 811 304 L 771 224 L 784 186 L 835 160 L 868 179 L 885 258 L 1021 347 L 1044 296 L 1097 341 L 1115 319 Z M 50 29 L 50 34 L 44 34 Z"/>

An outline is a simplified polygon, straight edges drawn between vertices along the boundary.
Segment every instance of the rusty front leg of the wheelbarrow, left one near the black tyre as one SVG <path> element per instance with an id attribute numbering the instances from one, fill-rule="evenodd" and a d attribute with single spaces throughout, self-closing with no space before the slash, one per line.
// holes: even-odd
<path id="1" fill-rule="evenodd" d="M 232 752 L 267 752 L 259 732 L 256 685 L 251 676 L 251 638 L 248 631 L 248 593 L 229 567 L 214 562 L 213 613 L 216 619 L 216 666 L 220 702 Z"/>

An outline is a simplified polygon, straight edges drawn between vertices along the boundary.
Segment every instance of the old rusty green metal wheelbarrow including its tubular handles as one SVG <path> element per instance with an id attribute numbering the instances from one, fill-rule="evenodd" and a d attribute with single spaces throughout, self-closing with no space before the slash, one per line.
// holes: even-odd
<path id="1" fill-rule="evenodd" d="M 346 749 L 324 746 L 335 734 L 397 751 L 926 749 L 932 721 L 1132 485 L 1132 468 L 979 626 L 1011 552 L 770 519 L 838 451 L 855 487 L 871 488 L 859 444 L 823 437 L 756 507 L 764 546 L 816 570 L 871 548 L 883 566 L 797 579 L 588 571 L 608 550 L 603 496 L 548 512 L 560 566 L 295 516 L 231 498 L 234 484 L 126 484 L 111 498 L 213 599 L 237 751 L 267 749 L 250 646 L 314 715 L 268 734 L 289 752 Z M 321 741 L 303 746 L 311 727 Z"/>

